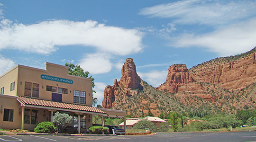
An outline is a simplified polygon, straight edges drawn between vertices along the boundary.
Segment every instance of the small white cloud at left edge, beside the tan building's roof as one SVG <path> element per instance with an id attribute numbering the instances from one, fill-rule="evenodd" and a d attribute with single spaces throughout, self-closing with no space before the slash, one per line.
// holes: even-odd
<path id="1" fill-rule="evenodd" d="M 15 63 L 12 60 L 0 55 L 0 65 L 0 75 L 2 75 L 6 71 L 9 71 L 11 68 L 13 68 L 15 66 Z"/>

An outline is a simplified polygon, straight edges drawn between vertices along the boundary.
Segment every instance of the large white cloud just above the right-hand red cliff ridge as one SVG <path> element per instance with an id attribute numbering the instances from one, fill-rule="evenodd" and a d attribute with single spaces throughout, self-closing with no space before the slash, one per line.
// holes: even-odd
<path id="1" fill-rule="evenodd" d="M 221 27 L 203 34 L 184 34 L 173 39 L 171 46 L 203 47 L 220 56 L 246 52 L 256 46 L 256 18 L 238 24 Z"/>

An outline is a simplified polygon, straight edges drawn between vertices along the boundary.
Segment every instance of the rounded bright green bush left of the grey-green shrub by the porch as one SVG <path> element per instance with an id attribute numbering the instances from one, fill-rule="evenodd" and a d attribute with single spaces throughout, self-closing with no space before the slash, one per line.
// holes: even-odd
<path id="1" fill-rule="evenodd" d="M 41 122 L 34 129 L 36 133 L 55 133 L 56 127 L 51 122 Z"/>

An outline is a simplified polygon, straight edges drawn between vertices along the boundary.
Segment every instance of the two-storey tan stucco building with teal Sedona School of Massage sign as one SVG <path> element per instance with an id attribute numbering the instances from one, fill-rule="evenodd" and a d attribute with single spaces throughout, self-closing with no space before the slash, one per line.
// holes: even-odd
<path id="1" fill-rule="evenodd" d="M 53 122 L 56 111 L 73 116 L 74 129 L 86 133 L 92 115 L 125 112 L 92 107 L 91 79 L 68 74 L 68 67 L 46 62 L 46 70 L 17 65 L 0 76 L 0 128 L 34 130 L 43 121 Z M 103 124 L 102 124 L 103 125 Z"/>

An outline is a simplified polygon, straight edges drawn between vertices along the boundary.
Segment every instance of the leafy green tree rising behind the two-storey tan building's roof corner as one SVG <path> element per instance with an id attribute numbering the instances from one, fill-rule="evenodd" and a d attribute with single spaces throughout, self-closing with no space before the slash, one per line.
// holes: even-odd
<path id="1" fill-rule="evenodd" d="M 93 90 L 93 88 L 95 87 L 95 84 L 94 84 L 94 78 L 92 76 L 89 77 L 89 71 L 83 71 L 80 65 L 74 65 L 73 63 L 66 62 L 65 66 L 68 66 L 68 74 L 89 78 L 92 80 L 91 81 L 91 91 L 92 91 L 91 97 L 92 97 L 92 106 L 95 107 L 98 102 L 98 98 L 93 97 L 93 93 L 96 93 L 96 91 Z"/>

